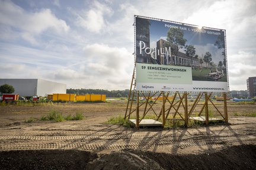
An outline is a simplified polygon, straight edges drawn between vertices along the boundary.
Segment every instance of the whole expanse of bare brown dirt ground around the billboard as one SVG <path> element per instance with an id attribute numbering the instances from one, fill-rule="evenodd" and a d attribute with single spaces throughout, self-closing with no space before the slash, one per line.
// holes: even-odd
<path id="1" fill-rule="evenodd" d="M 223 112 L 221 102 L 216 106 Z M 50 110 L 79 112 L 85 119 L 40 120 Z M 256 117 L 243 116 L 255 113 L 255 104 L 228 103 L 229 123 L 209 126 L 135 129 L 105 123 L 125 111 L 122 101 L 0 106 L 0 169 L 256 167 Z"/>

